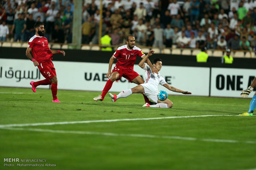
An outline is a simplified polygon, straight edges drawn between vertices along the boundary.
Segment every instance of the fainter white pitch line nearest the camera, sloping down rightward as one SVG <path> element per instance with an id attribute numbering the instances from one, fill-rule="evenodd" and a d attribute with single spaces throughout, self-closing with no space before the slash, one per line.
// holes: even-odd
<path id="1" fill-rule="evenodd" d="M 34 128 L 17 128 L 8 127 L 2 128 L 6 130 L 16 131 L 36 131 L 36 132 L 50 132 L 50 133 L 72 133 L 72 134 L 84 134 L 84 135 L 101 135 L 101 136 L 123 136 L 123 137 L 138 137 L 138 138 L 162 138 L 162 139 L 177 139 L 177 140 L 192 140 L 203 142 L 222 142 L 222 143 L 253 143 L 256 141 L 239 141 L 239 140 L 226 140 L 226 139 L 204 139 L 204 138 L 190 138 L 182 136 L 158 136 L 158 135 L 145 135 L 145 134 L 129 134 L 129 133 L 104 133 L 104 132 L 90 132 L 90 131 L 63 131 L 54 129 L 34 129 Z"/>

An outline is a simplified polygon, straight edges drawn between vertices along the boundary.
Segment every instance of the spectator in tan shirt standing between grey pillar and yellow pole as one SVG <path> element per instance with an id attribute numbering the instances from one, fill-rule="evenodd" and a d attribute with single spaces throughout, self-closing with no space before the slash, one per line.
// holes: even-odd
<path id="1" fill-rule="evenodd" d="M 92 17 L 88 18 L 82 25 L 82 44 L 89 44 L 93 35 Z"/>

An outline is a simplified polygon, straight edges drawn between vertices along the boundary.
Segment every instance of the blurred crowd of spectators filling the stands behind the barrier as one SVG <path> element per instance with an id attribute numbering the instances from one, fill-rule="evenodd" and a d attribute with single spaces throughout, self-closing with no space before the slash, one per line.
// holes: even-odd
<path id="1" fill-rule="evenodd" d="M 84 0 L 82 44 L 98 44 L 100 0 Z M 0 1 L 0 41 L 28 41 L 36 21 L 50 42 L 71 43 L 73 0 Z M 103 0 L 102 36 L 112 45 L 127 34 L 143 46 L 254 50 L 256 1 Z"/>

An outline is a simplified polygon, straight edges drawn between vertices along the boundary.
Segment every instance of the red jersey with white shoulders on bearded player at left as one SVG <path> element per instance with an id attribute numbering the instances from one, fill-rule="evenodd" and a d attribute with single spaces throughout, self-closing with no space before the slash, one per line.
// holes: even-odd
<path id="1" fill-rule="evenodd" d="M 48 40 L 45 37 L 34 35 L 28 41 L 28 48 L 32 49 L 33 58 L 40 64 L 52 59 L 52 51 L 48 46 Z"/>

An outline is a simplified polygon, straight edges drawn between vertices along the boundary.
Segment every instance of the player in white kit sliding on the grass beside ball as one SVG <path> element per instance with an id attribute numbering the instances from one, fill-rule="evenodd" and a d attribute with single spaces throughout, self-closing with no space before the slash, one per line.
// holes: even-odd
<path id="1" fill-rule="evenodd" d="M 157 99 L 157 93 L 158 93 L 158 85 L 161 84 L 164 87 L 166 87 L 168 90 L 171 90 L 173 92 L 178 92 L 178 93 L 183 93 L 183 94 L 191 94 L 191 92 L 183 91 L 176 89 L 175 87 L 170 86 L 164 78 L 158 73 L 152 73 L 151 68 L 149 67 L 148 64 L 145 63 L 147 58 L 152 55 L 152 53 L 149 53 L 147 57 L 143 58 L 139 66 L 146 71 L 146 83 L 137 85 L 136 87 L 133 87 L 132 89 L 124 90 L 118 95 L 111 94 L 109 93 L 109 97 L 113 102 L 115 102 L 119 98 L 124 98 L 128 97 L 133 93 L 143 93 L 145 94 L 150 100 L 154 101 L 157 103 L 156 105 L 149 105 L 149 103 L 146 103 L 142 107 L 154 107 L 154 108 L 172 108 L 173 107 L 173 102 L 171 100 L 166 99 L 165 101 L 160 101 Z M 157 58 L 153 62 L 153 66 L 160 71 L 162 68 L 162 60 Z"/>

